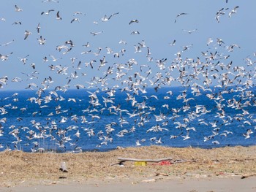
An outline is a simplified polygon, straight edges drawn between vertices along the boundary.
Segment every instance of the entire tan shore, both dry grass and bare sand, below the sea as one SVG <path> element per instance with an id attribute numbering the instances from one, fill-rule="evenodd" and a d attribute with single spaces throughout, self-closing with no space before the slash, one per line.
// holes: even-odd
<path id="1" fill-rule="evenodd" d="M 172 160 L 120 166 L 120 157 Z M 0 191 L 255 191 L 255 160 L 255 146 L 151 146 L 77 154 L 5 151 L 0 153 Z M 61 162 L 68 172 L 59 171 Z"/>

